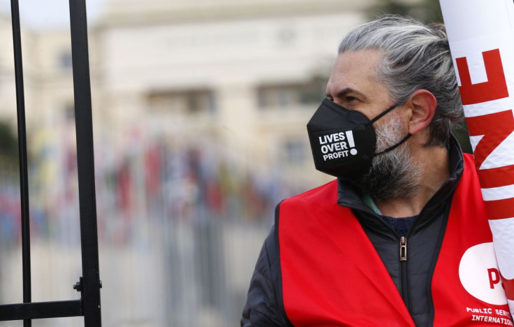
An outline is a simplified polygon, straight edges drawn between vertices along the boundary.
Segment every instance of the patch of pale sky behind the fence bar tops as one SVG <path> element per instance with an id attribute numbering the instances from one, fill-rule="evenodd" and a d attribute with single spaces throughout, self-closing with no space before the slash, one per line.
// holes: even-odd
<path id="1" fill-rule="evenodd" d="M 18 0 L 22 24 L 31 29 L 53 29 L 70 24 L 69 0 Z M 94 24 L 105 0 L 86 0 L 88 24 Z M 10 0 L 0 0 L 3 15 L 10 16 Z"/>

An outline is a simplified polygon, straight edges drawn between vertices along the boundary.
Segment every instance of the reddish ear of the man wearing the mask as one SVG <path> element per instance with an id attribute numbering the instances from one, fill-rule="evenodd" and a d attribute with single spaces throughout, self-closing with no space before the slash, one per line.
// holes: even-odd
<path id="1" fill-rule="evenodd" d="M 418 89 L 410 96 L 406 104 L 411 109 L 409 133 L 416 134 L 423 131 L 434 117 L 437 106 L 436 97 L 426 89 Z"/>

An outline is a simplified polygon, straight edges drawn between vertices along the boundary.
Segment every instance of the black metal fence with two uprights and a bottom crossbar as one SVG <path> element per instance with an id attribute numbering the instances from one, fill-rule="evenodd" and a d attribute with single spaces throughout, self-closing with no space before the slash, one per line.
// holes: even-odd
<path id="1" fill-rule="evenodd" d="M 25 129 L 20 10 L 18 0 L 10 1 L 13 21 L 18 148 L 20 156 L 23 303 L 0 303 L 0 321 L 23 320 L 24 327 L 31 326 L 32 319 L 78 316 L 84 317 L 85 327 L 101 326 L 101 281 L 98 268 L 98 234 L 96 226 L 93 124 L 86 3 L 85 0 L 70 0 L 69 3 L 77 136 L 80 238 L 82 247 L 82 277 L 80 277 L 73 288 L 80 291 L 81 296 L 79 300 L 33 303 L 31 301 L 29 181 L 27 173 L 27 133 Z"/>

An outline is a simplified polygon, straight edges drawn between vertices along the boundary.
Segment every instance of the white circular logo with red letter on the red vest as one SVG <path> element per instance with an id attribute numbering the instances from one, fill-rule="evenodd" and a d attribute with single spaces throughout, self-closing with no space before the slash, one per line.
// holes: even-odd
<path id="1" fill-rule="evenodd" d="M 462 286 L 472 296 L 492 305 L 506 305 L 507 298 L 492 242 L 470 247 L 459 265 Z"/>

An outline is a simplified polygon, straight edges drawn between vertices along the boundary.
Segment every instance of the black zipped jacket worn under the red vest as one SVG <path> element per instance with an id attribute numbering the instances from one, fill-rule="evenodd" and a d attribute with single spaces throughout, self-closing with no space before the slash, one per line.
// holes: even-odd
<path id="1" fill-rule="evenodd" d="M 351 208 L 374 245 L 416 326 L 432 326 L 434 304 L 431 282 L 446 230 L 453 191 L 464 170 L 462 152 L 450 140 L 450 178 L 430 198 L 407 234 L 409 261 L 399 261 L 399 235 L 379 215 L 362 202 L 358 193 L 339 181 L 339 205 Z M 279 208 L 279 207 L 277 207 Z M 281 270 L 275 226 L 267 236 L 251 278 L 241 326 L 293 326 L 286 316 L 281 295 Z"/>

